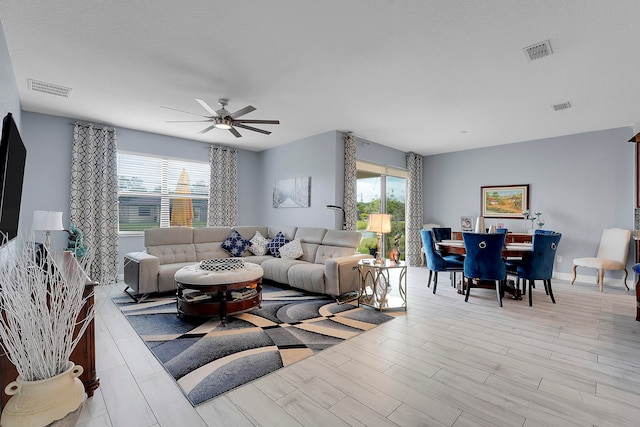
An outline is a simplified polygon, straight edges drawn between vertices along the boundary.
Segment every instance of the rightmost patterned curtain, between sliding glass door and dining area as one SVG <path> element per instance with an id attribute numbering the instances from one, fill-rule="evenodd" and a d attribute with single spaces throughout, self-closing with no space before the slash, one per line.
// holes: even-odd
<path id="1" fill-rule="evenodd" d="M 410 265 L 420 265 L 422 261 L 422 156 L 407 154 L 407 206 L 406 206 L 406 246 L 405 259 Z"/>

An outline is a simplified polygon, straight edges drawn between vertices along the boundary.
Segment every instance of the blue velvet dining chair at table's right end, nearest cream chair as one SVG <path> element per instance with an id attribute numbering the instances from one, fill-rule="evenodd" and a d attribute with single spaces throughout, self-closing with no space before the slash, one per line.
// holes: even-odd
<path id="1" fill-rule="evenodd" d="M 537 233 L 537 231 L 544 232 Z M 523 280 L 523 291 L 528 282 L 530 306 L 533 304 L 531 288 L 535 287 L 536 280 L 543 281 L 544 291 L 551 297 L 551 301 L 554 304 L 556 303 L 553 297 L 553 290 L 551 289 L 551 277 L 553 276 L 553 263 L 561 237 L 562 234 L 560 233 L 536 230 L 536 233 L 533 234 L 531 255 L 523 257 L 522 261 L 516 265 L 507 261 L 507 270 L 509 270 L 509 272 L 515 272 L 518 281 L 520 281 L 520 279 Z"/>

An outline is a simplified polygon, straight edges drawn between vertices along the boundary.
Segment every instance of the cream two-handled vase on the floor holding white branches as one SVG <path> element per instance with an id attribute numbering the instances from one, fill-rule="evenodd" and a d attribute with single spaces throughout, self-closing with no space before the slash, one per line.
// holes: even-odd
<path id="1" fill-rule="evenodd" d="M 67 369 L 38 381 L 18 378 L 4 391 L 11 396 L 2 408 L 2 427 L 39 427 L 51 424 L 74 412 L 84 402 L 84 386 L 78 378 L 84 369 L 67 362 Z"/>

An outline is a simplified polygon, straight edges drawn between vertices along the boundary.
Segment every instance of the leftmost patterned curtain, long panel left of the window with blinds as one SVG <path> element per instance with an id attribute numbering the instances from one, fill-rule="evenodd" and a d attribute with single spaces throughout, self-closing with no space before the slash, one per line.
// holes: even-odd
<path id="1" fill-rule="evenodd" d="M 70 221 L 93 254 L 91 279 L 118 279 L 118 173 L 114 129 L 76 123 L 71 152 Z"/>

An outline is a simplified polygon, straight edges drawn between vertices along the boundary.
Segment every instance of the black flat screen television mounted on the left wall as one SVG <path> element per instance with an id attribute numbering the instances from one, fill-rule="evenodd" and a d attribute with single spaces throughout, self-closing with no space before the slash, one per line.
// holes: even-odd
<path id="1" fill-rule="evenodd" d="M 13 116 L 8 113 L 2 121 L 0 140 L 0 232 L 7 241 L 18 235 L 26 160 L 27 149 Z"/>

